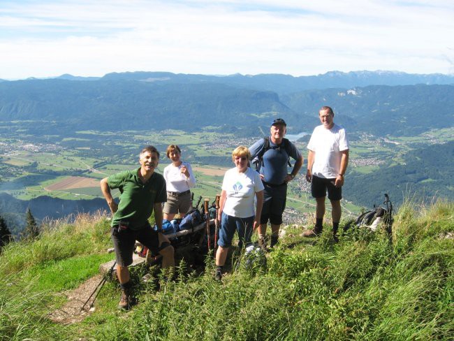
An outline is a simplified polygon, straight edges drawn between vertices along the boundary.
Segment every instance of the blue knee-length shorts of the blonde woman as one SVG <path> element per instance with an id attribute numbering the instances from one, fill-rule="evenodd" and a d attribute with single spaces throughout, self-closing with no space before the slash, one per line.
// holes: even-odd
<path id="1" fill-rule="evenodd" d="M 235 231 L 237 231 L 240 240 L 238 246 L 243 247 L 251 242 L 253 227 L 254 216 L 249 218 L 237 218 L 222 212 L 218 245 L 221 247 L 230 247 L 232 245 L 233 235 L 235 235 Z"/>

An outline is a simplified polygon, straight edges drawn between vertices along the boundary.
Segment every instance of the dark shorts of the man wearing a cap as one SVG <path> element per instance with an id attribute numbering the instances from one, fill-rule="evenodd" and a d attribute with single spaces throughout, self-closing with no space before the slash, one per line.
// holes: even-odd
<path id="1" fill-rule="evenodd" d="M 263 208 L 260 217 L 260 224 L 280 225 L 282 224 L 282 213 L 286 208 L 287 184 L 267 184 L 263 182 Z"/>

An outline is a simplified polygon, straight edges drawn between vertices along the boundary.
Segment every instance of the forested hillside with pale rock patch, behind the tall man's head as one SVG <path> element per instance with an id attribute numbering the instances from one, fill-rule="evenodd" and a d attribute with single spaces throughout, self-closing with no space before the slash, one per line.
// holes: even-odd
<path id="1" fill-rule="evenodd" d="M 281 101 L 301 115 L 316 116 L 321 106 L 331 106 L 335 122 L 348 131 L 375 136 L 415 136 L 454 121 L 452 85 L 312 90 L 281 96 Z"/>

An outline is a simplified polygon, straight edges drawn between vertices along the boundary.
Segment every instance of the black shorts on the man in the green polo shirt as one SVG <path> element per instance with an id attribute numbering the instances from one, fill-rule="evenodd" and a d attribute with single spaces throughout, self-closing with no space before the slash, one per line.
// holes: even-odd
<path id="1" fill-rule="evenodd" d="M 136 240 L 145 245 L 156 256 L 170 244 L 163 242 L 159 247 L 158 233 L 148 223 L 138 230 L 126 228 L 118 232 L 118 226 L 112 227 L 112 242 L 115 249 L 117 264 L 129 266 L 133 263 L 133 252 Z"/>

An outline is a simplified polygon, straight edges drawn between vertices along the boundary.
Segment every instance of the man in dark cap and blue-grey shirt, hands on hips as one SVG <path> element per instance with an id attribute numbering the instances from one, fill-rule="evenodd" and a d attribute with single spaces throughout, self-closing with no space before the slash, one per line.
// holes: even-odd
<path id="1" fill-rule="evenodd" d="M 249 147 L 252 159 L 259 159 L 258 171 L 265 187 L 261 224 L 258 227 L 258 243 L 266 250 L 266 227 L 271 224 L 270 247 L 277 244 L 282 213 L 286 207 L 287 184 L 298 174 L 302 166 L 302 154 L 289 140 L 284 138 L 287 124 L 284 119 L 274 119 L 270 127 L 270 137 L 261 138 Z M 287 164 L 290 157 L 295 159 L 291 173 Z"/>

